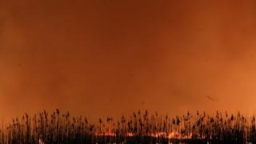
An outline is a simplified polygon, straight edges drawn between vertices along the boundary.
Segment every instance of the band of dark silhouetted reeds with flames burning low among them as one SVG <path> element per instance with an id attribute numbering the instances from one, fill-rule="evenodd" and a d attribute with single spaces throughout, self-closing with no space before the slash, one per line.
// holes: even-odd
<path id="1" fill-rule="evenodd" d="M 0 143 L 256 143 L 255 118 L 203 112 L 171 118 L 158 113 L 134 112 L 129 118 L 99 118 L 90 123 L 85 117 L 71 118 L 67 112 L 42 111 L 30 117 L 14 118 L 2 126 Z"/>

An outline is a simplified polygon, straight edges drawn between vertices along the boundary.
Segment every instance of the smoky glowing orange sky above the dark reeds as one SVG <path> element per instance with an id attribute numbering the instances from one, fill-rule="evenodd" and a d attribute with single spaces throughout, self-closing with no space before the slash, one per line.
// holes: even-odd
<path id="1" fill-rule="evenodd" d="M 0 1 L 0 116 L 256 106 L 256 2 Z"/>

